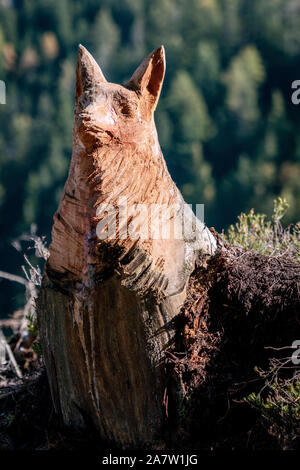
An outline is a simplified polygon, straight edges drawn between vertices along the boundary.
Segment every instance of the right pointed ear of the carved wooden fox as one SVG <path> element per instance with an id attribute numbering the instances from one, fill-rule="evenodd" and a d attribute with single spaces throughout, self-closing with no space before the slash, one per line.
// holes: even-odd
<path id="1" fill-rule="evenodd" d="M 146 57 L 136 69 L 126 87 L 138 90 L 148 100 L 153 112 L 156 108 L 166 70 L 164 46 Z"/>

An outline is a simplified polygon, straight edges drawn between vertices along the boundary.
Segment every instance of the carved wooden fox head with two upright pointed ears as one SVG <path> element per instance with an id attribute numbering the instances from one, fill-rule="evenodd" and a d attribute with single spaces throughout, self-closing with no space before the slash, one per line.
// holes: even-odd
<path id="1" fill-rule="evenodd" d="M 153 51 L 124 86 L 109 83 L 91 56 L 79 46 L 75 122 L 87 146 L 139 143 L 154 132 L 153 113 L 165 74 L 163 46 Z"/>

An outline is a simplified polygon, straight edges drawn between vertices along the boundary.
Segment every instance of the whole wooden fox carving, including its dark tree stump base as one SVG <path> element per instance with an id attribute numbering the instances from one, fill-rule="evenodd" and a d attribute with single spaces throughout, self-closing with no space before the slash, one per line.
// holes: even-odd
<path id="1" fill-rule="evenodd" d="M 109 83 L 79 46 L 73 154 L 39 296 L 57 412 L 123 446 L 159 437 L 174 318 L 196 256 L 216 250 L 161 153 L 164 74 L 160 47 L 126 85 Z"/>

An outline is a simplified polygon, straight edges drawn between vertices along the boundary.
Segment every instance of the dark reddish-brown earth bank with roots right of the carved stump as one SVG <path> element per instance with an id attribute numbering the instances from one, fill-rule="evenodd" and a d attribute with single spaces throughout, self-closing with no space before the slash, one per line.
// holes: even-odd
<path id="1" fill-rule="evenodd" d="M 267 368 L 300 339 L 300 265 L 220 239 L 219 246 L 190 278 L 166 355 L 168 415 L 177 423 L 172 439 L 180 434 L 183 446 L 276 448 L 243 398 L 262 387 L 256 367 Z"/>

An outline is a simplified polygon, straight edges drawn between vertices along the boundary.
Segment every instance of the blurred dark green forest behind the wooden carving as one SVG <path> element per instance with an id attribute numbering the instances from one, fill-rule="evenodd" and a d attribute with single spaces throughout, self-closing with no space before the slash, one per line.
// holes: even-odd
<path id="1" fill-rule="evenodd" d="M 209 226 L 252 207 L 271 214 L 278 196 L 290 203 L 285 224 L 300 219 L 299 0 L 0 0 L 0 270 L 22 274 L 22 234 L 50 241 L 79 43 L 115 83 L 165 46 L 159 140 Z M 1 280 L 0 292 L 0 317 L 23 305 L 22 286 Z"/>

